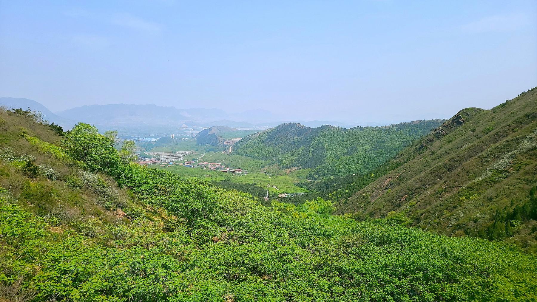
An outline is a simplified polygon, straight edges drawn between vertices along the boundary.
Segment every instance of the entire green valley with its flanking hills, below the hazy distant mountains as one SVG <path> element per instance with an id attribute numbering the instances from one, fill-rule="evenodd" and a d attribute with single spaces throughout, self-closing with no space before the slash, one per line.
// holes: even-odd
<path id="1" fill-rule="evenodd" d="M 154 142 L 2 109 L 0 295 L 535 300 L 536 108 Z"/>

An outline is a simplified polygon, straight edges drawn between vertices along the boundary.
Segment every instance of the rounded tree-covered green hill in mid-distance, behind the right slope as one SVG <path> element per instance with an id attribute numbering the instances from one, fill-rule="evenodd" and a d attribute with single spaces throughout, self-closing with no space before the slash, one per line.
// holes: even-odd
<path id="1" fill-rule="evenodd" d="M 233 153 L 271 160 L 282 167 L 311 168 L 311 178 L 340 177 L 371 170 L 442 122 L 415 121 L 351 129 L 281 124 L 241 139 L 234 145 Z"/>

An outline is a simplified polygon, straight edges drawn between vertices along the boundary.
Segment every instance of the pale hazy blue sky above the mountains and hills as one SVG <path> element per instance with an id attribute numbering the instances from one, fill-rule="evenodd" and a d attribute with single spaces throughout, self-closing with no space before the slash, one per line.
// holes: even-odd
<path id="1" fill-rule="evenodd" d="M 0 97 L 408 121 L 537 86 L 532 1 L 3 1 Z"/>

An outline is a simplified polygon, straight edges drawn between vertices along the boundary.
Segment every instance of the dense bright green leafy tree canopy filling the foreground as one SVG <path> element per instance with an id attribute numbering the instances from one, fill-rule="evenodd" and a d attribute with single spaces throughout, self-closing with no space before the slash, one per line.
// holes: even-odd
<path id="1" fill-rule="evenodd" d="M 122 181 L 177 216 L 162 228 L 139 218 L 93 237 L 56 234 L 3 203 L 3 267 L 12 273 L 4 284 L 21 280 L 18 294 L 37 300 L 535 298 L 536 259 L 513 248 L 357 223 L 330 216 L 331 203 L 322 200 L 265 208 L 206 183 L 140 169 L 132 166 Z M 167 191 L 155 194 L 156 186 Z"/>

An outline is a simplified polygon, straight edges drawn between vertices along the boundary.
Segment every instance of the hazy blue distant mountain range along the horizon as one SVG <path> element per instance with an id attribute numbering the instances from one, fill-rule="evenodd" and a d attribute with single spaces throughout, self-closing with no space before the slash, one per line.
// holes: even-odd
<path id="1" fill-rule="evenodd" d="M 4 99 L 2 101 L 2 99 Z M 249 128 L 263 130 L 277 127 L 281 123 L 300 123 L 308 127 L 332 125 L 343 128 L 355 126 L 383 126 L 383 122 L 344 123 L 338 121 L 302 121 L 284 120 L 282 116 L 266 109 L 249 109 L 238 113 L 227 113 L 219 108 L 187 108 L 181 109 L 172 106 L 159 106 L 155 104 L 106 104 L 84 105 L 53 113 L 39 102 L 28 99 L 0 98 L 0 105 L 27 108 L 43 112 L 51 122 L 59 123 L 66 129 L 71 128 L 79 121 L 95 124 L 100 129 L 118 129 L 133 127 L 181 127 L 183 124 L 193 127 L 210 128 L 213 126 L 227 126 L 232 128 Z"/>

